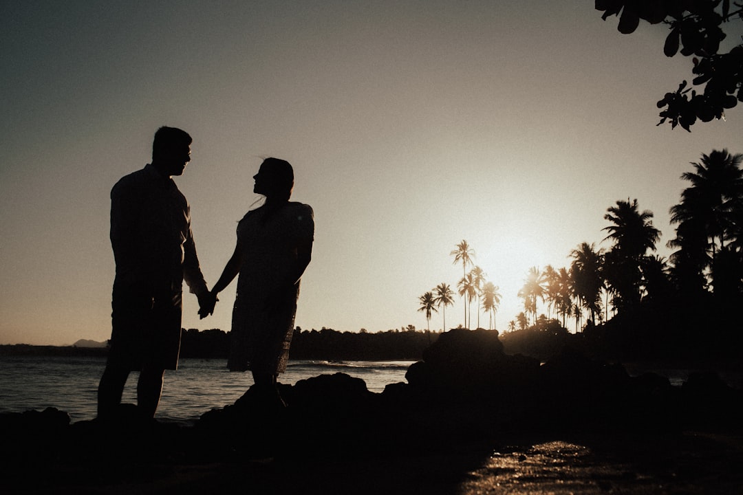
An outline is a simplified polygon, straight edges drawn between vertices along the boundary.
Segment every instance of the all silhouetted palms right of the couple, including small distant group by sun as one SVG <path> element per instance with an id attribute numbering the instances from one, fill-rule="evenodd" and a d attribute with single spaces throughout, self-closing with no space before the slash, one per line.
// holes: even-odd
<path id="1" fill-rule="evenodd" d="M 677 347 L 678 341 L 696 345 L 693 332 L 702 329 L 716 348 L 731 337 L 740 339 L 734 314 L 743 303 L 742 162 L 742 154 L 713 150 L 681 175 L 687 187 L 669 210 L 675 237 L 666 243 L 674 249 L 668 258 L 654 254 L 661 231 L 652 223 L 653 213 L 641 210 L 636 199 L 617 200 L 604 214 L 609 225 L 603 241 L 611 245 L 583 242 L 570 252 L 569 266 L 529 269 L 518 293 L 524 312 L 508 330 L 536 326 L 541 303 L 542 326 L 555 319 L 567 327 L 568 318 L 574 318 L 576 332 L 603 335 L 604 344 L 611 340 L 607 335 L 618 335 L 611 340 L 617 348 L 632 345 L 629 335 L 635 344 L 655 336 L 647 342 L 655 350 Z M 470 327 L 473 301 L 478 313 L 494 313 L 498 287 L 485 282 L 477 266 L 467 272 L 473 249 L 466 240 L 451 254 L 464 269 L 458 287 Z M 426 319 L 452 304 L 447 289 L 442 283 L 419 298 Z"/>

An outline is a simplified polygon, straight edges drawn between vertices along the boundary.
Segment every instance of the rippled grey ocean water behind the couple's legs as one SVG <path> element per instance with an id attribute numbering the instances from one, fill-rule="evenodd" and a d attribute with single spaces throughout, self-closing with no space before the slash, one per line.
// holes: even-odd
<path id="1" fill-rule="evenodd" d="M 381 393 L 387 384 L 405 381 L 414 361 L 289 361 L 283 384 L 322 374 L 346 373 Z M 0 413 L 56 407 L 73 422 L 96 416 L 98 381 L 106 358 L 0 356 Z M 178 370 L 165 373 L 157 419 L 194 422 L 215 407 L 233 404 L 253 384 L 250 373 L 230 373 L 225 359 L 184 358 Z M 135 404 L 137 375 L 129 376 L 123 402 Z"/>

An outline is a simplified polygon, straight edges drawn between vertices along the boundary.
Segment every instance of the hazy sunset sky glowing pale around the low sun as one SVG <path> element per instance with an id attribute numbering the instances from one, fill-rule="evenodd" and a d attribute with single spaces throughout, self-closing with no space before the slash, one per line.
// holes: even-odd
<path id="1" fill-rule="evenodd" d="M 591 0 L 0 0 L 0 344 L 110 336 L 109 192 L 161 125 L 194 139 L 175 181 L 210 286 L 262 158 L 293 164 L 316 223 L 303 330 L 426 329 L 418 298 L 456 290 L 461 240 L 505 330 L 531 266 L 609 247 L 617 200 L 655 214 L 667 256 L 681 174 L 743 151 L 743 109 L 656 126 L 692 62 L 663 56 L 663 26 L 616 26 Z M 199 320 L 186 295 L 183 326 L 229 330 L 234 297 Z M 464 323 L 458 295 L 445 317 Z"/>

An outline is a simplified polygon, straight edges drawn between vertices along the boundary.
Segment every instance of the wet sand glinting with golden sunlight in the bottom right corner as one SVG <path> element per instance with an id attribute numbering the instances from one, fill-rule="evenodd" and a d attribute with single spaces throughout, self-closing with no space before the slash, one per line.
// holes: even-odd
<path id="1" fill-rule="evenodd" d="M 586 443 L 597 442 L 597 447 Z M 743 439 L 553 441 L 493 453 L 458 494 L 742 494 Z"/>

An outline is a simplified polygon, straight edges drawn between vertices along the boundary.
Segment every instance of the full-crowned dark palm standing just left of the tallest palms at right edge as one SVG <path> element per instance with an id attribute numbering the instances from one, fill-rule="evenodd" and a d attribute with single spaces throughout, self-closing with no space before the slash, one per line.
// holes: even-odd
<path id="1" fill-rule="evenodd" d="M 614 242 L 604 258 L 606 274 L 611 277 L 607 281 L 617 292 L 614 299 L 621 308 L 636 307 L 641 294 L 640 263 L 648 249 L 655 251 L 661 231 L 652 225 L 652 212 L 640 212 L 637 200 L 618 200 L 606 211 L 604 219 L 612 225 L 603 229 L 609 232 L 604 240 Z"/>

